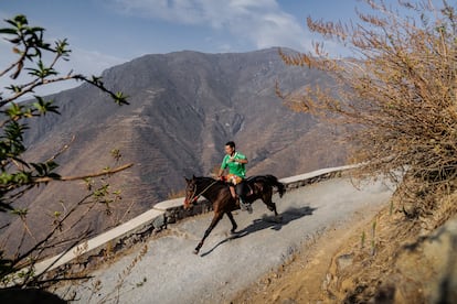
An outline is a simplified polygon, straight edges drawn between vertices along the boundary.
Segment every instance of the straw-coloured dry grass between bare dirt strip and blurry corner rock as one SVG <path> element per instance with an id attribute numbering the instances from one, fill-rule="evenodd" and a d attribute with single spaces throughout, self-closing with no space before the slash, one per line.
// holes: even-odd
<path id="1" fill-rule="evenodd" d="M 455 204 L 457 194 L 443 195 L 434 205 L 433 215 L 424 220 L 405 220 L 403 211 L 396 209 L 392 214 L 391 206 L 384 207 L 371 225 L 366 225 L 361 234 L 365 232 L 368 242 L 361 246 L 360 235 L 354 234 L 347 245 L 342 246 L 332 259 L 329 273 L 331 280 L 326 289 L 328 300 L 338 298 L 344 303 L 365 303 L 374 297 L 386 297 L 394 301 L 395 286 L 406 280 L 400 274 L 397 259 L 407 247 L 416 245 L 419 239 L 440 227 L 446 220 L 457 214 Z M 394 206 L 401 206 L 403 199 L 394 196 Z M 375 234 L 373 222 L 375 222 Z M 370 241 L 373 241 L 370 243 Z M 373 250 L 374 247 L 374 250 Z M 352 257 L 349 268 L 338 265 L 341 257 Z M 423 261 L 424 262 L 424 261 Z M 418 265 L 416 265 L 418 267 Z M 424 278 L 414 278 L 421 285 L 422 279 L 432 275 L 424 272 Z M 419 286 L 416 292 L 408 293 L 408 301 L 424 303 L 427 300 L 421 292 L 425 286 Z M 398 297 L 398 295 L 396 295 Z M 397 301 L 398 298 L 396 298 Z M 410 302 L 410 303 L 413 303 Z"/>

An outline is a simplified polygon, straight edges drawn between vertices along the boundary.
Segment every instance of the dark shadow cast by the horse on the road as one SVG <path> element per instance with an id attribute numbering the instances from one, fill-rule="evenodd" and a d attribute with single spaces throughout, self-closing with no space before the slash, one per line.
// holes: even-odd
<path id="1" fill-rule="evenodd" d="M 210 254 L 217 247 L 220 247 L 221 245 L 223 245 L 227 241 L 231 241 L 231 240 L 234 240 L 234 239 L 240 239 L 240 238 L 243 238 L 247 235 L 251 235 L 251 234 L 264 230 L 264 229 L 272 229 L 272 230 L 279 231 L 283 228 L 283 226 L 286 226 L 290 221 L 294 221 L 296 219 L 300 219 L 305 216 L 310 216 L 310 215 L 312 215 L 312 211 L 316 210 L 316 209 L 317 208 L 311 208 L 309 206 L 305 206 L 305 207 L 300 207 L 300 208 L 289 207 L 281 214 L 281 221 L 278 221 L 276 216 L 264 215 L 261 219 L 254 219 L 253 224 L 251 224 L 246 228 L 244 228 L 244 229 L 235 232 L 234 235 L 230 236 L 228 238 L 217 242 L 213 248 L 211 248 L 210 250 L 203 252 L 200 257 L 205 257 L 205 256 Z"/>

